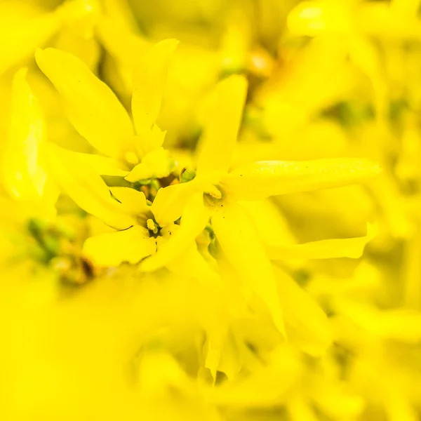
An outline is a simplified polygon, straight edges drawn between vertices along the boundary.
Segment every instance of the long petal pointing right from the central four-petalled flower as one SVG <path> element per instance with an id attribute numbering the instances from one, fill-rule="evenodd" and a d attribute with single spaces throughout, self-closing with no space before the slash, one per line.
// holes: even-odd
<path id="1" fill-rule="evenodd" d="M 261 161 L 236 168 L 221 184 L 238 199 L 258 200 L 277 194 L 352 185 L 379 173 L 380 167 L 367 159 Z"/>

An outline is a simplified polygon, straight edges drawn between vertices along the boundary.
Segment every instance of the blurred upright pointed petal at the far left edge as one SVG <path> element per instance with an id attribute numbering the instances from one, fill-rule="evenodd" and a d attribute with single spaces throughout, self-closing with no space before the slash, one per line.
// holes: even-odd
<path id="1" fill-rule="evenodd" d="M 40 165 L 41 143 L 45 137 L 41 107 L 29 87 L 27 69 L 13 79 L 11 126 L 2 159 L 4 185 L 16 199 L 40 199 L 47 174 Z"/>

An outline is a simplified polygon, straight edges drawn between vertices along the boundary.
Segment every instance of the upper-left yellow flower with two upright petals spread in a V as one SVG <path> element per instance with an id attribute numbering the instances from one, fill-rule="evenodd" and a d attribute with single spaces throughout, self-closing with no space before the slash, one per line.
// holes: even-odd
<path id="1" fill-rule="evenodd" d="M 36 52 L 36 62 L 58 90 L 74 128 L 105 155 L 83 157 L 100 175 L 126 175 L 133 182 L 171 172 L 171 163 L 161 149 L 165 133 L 155 121 L 177 44 L 175 40 L 161 41 L 140 60 L 133 82 L 135 133 L 114 93 L 81 60 L 53 48 Z M 163 167 L 162 161 L 167 165 Z"/>

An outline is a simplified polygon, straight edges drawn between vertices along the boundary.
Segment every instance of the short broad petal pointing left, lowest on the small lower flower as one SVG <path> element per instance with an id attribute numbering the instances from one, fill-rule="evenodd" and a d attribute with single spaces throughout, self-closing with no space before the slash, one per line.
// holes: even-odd
<path id="1" fill-rule="evenodd" d="M 95 265 L 112 267 L 122 262 L 138 263 L 155 253 L 154 239 L 147 229 L 135 225 L 124 231 L 93 236 L 83 244 L 83 255 Z"/>

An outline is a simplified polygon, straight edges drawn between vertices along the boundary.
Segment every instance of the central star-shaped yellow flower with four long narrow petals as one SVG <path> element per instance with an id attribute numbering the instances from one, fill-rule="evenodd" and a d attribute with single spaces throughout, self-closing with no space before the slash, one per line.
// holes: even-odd
<path id="1" fill-rule="evenodd" d="M 203 135 L 196 178 L 160 189 L 152 203 L 152 211 L 156 218 L 176 220 L 183 214 L 190 196 L 203 194 L 203 201 L 197 200 L 197 208 L 189 209 L 189 212 L 197 215 L 208 213 L 215 236 L 229 262 L 267 303 L 275 323 L 283 330 L 272 263 L 253 220 L 240 202 L 348 185 L 376 175 L 379 168 L 361 159 L 322 159 L 255 162 L 229 171 L 246 91 L 243 76 L 230 76 L 219 83 L 213 112 Z M 183 214 L 182 220 L 184 218 Z M 196 220 L 199 222 L 201 218 Z M 204 227 L 204 223 L 202 227 L 197 225 L 194 233 Z M 175 247 L 177 242 L 177 238 L 171 239 L 166 248 Z M 323 246 L 321 244 L 321 248 Z M 166 248 L 142 262 L 140 268 L 152 271 L 163 265 Z M 309 249 L 311 246 L 307 246 L 307 252 Z"/>

